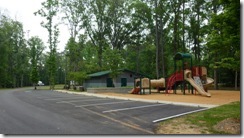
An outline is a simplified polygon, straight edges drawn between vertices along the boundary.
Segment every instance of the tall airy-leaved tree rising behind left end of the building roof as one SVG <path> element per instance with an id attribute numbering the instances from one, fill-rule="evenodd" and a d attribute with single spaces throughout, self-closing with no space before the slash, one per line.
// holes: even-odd
<path id="1" fill-rule="evenodd" d="M 83 26 L 94 46 L 97 47 L 98 65 L 103 67 L 103 49 L 108 46 L 105 36 L 108 31 L 107 0 L 87 0 Z"/>

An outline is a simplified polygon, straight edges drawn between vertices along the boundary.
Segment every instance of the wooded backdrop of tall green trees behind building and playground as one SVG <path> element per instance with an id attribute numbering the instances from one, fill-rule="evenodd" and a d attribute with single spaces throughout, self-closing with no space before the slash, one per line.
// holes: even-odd
<path id="1" fill-rule="evenodd" d="M 33 14 L 42 17 L 48 40 L 26 38 L 23 24 L 0 12 L 0 88 L 42 80 L 54 89 L 121 68 L 167 78 L 177 52 L 191 53 L 215 82 L 240 85 L 240 1 L 46 0 Z M 70 31 L 62 52 L 57 19 Z"/>

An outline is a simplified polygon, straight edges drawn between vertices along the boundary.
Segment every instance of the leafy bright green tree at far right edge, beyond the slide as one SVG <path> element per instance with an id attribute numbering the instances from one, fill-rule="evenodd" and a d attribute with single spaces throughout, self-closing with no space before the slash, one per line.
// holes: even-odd
<path id="1" fill-rule="evenodd" d="M 223 0 L 220 14 L 213 14 L 210 22 L 211 33 L 207 46 L 210 56 L 219 67 L 235 71 L 235 88 L 237 89 L 240 71 L 240 3 L 235 0 Z M 221 53 L 221 54 L 220 54 Z"/>

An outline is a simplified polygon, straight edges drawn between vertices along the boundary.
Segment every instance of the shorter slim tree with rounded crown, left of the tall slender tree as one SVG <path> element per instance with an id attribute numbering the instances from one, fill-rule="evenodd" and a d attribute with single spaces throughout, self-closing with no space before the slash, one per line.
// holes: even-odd
<path id="1" fill-rule="evenodd" d="M 31 72 L 30 77 L 33 85 L 35 86 L 39 81 L 39 69 L 38 69 L 38 62 L 40 61 L 40 56 L 42 54 L 42 51 L 44 50 L 44 43 L 42 40 L 35 36 L 31 37 L 28 40 L 28 45 L 30 46 L 30 59 L 31 59 Z M 40 65 L 39 65 L 40 66 Z"/>

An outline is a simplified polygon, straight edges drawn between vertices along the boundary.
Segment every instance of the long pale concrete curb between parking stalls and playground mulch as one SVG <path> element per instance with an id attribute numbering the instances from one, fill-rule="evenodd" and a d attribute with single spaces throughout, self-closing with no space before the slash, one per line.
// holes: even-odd
<path id="1" fill-rule="evenodd" d="M 192 106 L 192 107 L 206 107 L 206 108 L 213 108 L 219 105 L 211 105 L 211 104 L 198 104 L 198 103 L 184 103 L 184 102 L 171 102 L 171 101 L 163 101 L 163 100 L 146 100 L 146 99 L 139 99 L 139 98 L 125 98 L 125 97 L 118 97 L 118 96 L 109 96 L 109 95 L 102 95 L 97 93 L 87 93 L 87 92 L 71 92 L 67 90 L 55 90 L 56 92 L 63 92 L 68 94 L 78 94 L 78 95 L 86 95 L 86 96 L 95 96 L 100 98 L 113 98 L 113 99 L 120 99 L 120 100 L 131 100 L 131 101 L 141 101 L 141 102 L 149 102 L 149 103 L 166 103 L 166 104 L 173 104 L 173 105 L 183 105 L 183 106 Z"/>

